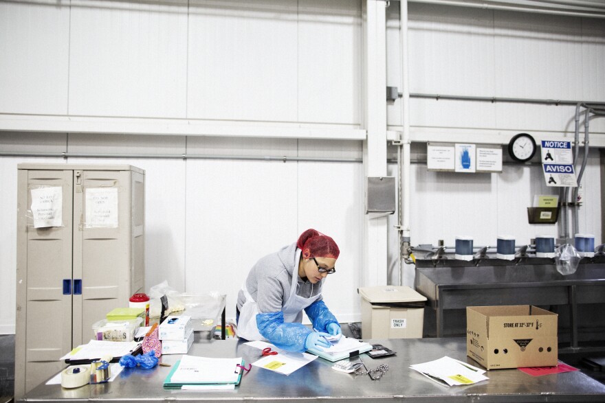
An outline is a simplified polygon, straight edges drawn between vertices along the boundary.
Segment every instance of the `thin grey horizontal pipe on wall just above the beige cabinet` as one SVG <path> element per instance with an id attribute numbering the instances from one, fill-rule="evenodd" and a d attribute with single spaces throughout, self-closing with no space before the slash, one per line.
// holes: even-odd
<path id="1" fill-rule="evenodd" d="M 273 157 L 210 154 L 86 154 L 80 152 L 0 152 L 0 157 L 59 157 L 59 158 L 138 158 L 138 159 L 217 159 L 244 161 L 297 161 L 297 162 L 342 162 L 362 163 L 361 158 L 318 158 L 318 157 Z"/>

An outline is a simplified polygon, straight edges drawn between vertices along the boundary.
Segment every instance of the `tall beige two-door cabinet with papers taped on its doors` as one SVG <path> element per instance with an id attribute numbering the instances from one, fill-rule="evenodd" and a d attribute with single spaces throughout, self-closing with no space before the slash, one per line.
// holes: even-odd
<path id="1" fill-rule="evenodd" d="M 144 170 L 18 165 L 14 394 L 65 367 L 91 325 L 144 290 Z"/>

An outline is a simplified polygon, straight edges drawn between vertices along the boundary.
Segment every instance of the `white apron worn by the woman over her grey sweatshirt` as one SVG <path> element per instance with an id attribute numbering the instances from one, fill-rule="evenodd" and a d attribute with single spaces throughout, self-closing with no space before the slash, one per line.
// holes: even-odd
<path id="1" fill-rule="evenodd" d="M 296 257 L 300 256 L 299 253 Z M 298 262 L 298 259 L 296 260 Z M 307 306 L 317 301 L 321 294 L 318 294 L 311 298 L 300 297 L 296 295 L 296 286 L 298 285 L 298 264 L 294 264 L 294 270 L 292 273 L 292 286 L 290 287 L 290 295 L 283 304 L 283 314 L 285 323 L 302 323 L 303 322 L 303 310 Z M 261 340 L 266 341 L 261 333 L 259 327 L 256 326 L 256 315 L 259 314 L 259 307 L 256 305 L 256 301 L 252 299 L 252 295 L 245 287 L 245 282 L 241 286 L 243 295 L 245 296 L 245 303 L 239 310 L 239 322 L 237 324 L 237 335 L 241 338 L 245 338 L 249 341 Z"/>

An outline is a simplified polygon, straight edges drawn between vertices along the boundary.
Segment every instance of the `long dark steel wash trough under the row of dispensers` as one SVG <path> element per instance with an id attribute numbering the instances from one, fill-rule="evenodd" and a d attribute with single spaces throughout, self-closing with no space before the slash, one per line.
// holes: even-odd
<path id="1" fill-rule="evenodd" d="M 456 260 L 441 260 L 432 267 L 430 260 L 417 260 L 416 290 L 427 297 L 429 306 L 435 310 L 437 337 L 447 336 L 444 315 L 448 310 L 522 304 L 569 306 L 571 343 L 566 350 L 577 351 L 580 347 L 577 307 L 584 303 L 605 303 L 605 264 L 581 263 L 573 275 L 561 275 L 554 264 L 544 262 L 551 260 L 485 259 L 478 267 Z"/>

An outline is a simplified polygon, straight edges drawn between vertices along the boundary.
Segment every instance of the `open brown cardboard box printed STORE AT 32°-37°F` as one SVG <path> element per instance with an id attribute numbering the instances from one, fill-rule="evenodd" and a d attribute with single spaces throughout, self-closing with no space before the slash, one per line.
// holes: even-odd
<path id="1" fill-rule="evenodd" d="M 486 369 L 553 367 L 557 319 L 536 306 L 469 306 L 466 354 Z"/>

